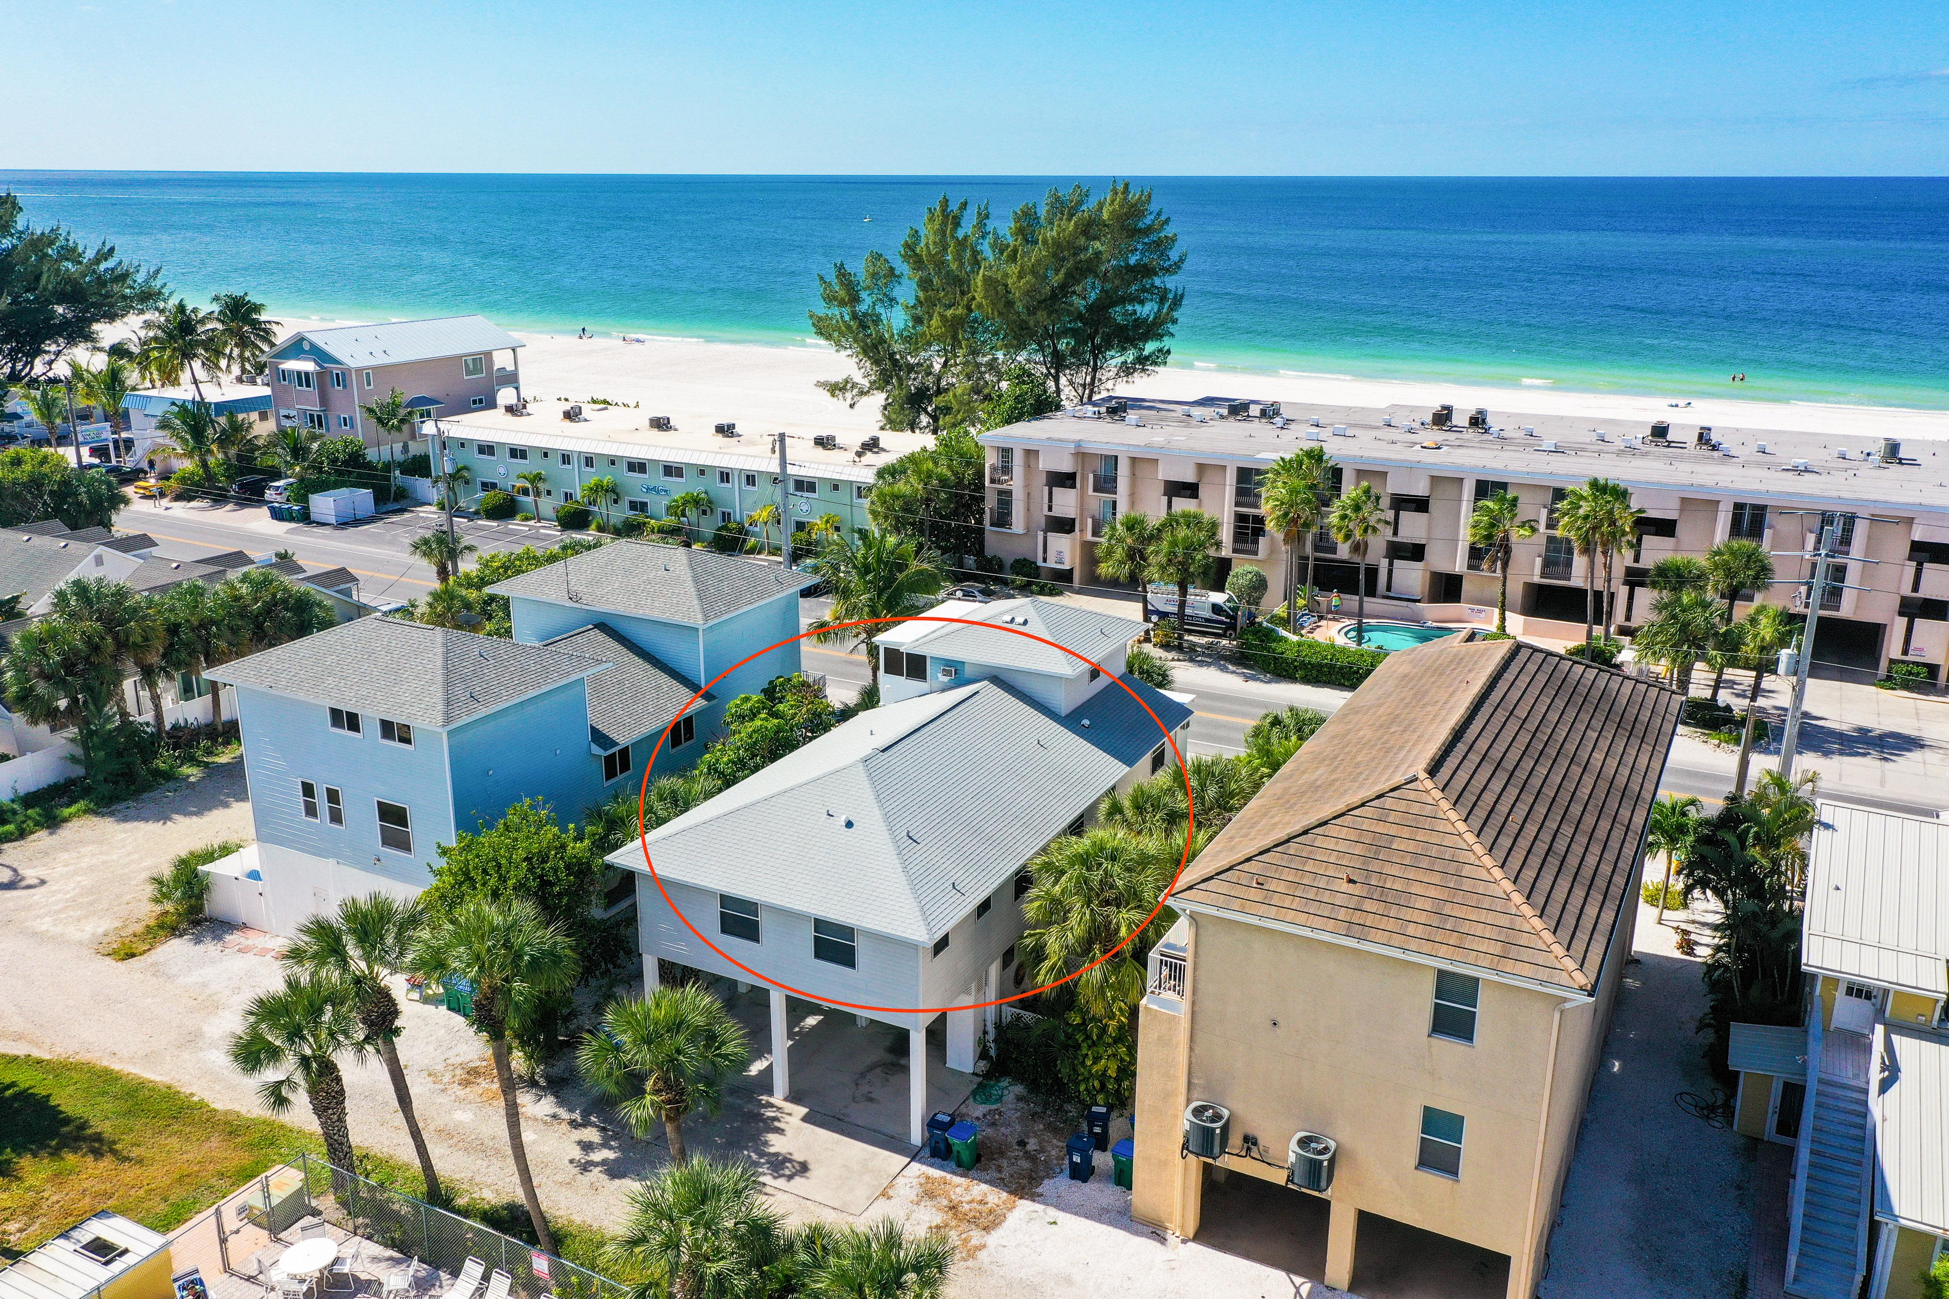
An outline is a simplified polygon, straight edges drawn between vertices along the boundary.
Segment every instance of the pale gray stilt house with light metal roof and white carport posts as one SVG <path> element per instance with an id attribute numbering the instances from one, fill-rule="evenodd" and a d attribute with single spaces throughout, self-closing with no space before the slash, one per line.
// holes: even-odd
<path id="1" fill-rule="evenodd" d="M 982 612 L 937 606 L 873 647 L 889 664 L 883 686 L 904 682 L 898 672 L 918 660 L 916 686 L 924 687 L 860 713 L 653 830 L 647 849 L 661 884 L 649 878 L 643 845 L 610 855 L 639 874 L 647 980 L 659 978 L 659 960 L 748 978 L 700 943 L 688 919 L 725 952 L 762 962 L 768 976 L 799 989 L 793 995 L 906 1028 L 916 1141 L 926 1118 L 926 1034 L 941 1017 L 920 1007 L 994 999 L 1004 978 L 1021 985 L 1013 945 L 1023 867 L 1080 828 L 1105 793 L 1162 771 L 1167 736 L 1181 750 L 1191 721 L 1189 697 L 1125 672 L 1140 623 L 1072 617 L 1070 608 L 1041 600 L 1012 604 L 1025 608 L 996 617 L 1029 617 L 1103 670 L 1072 672 L 1072 654 L 1002 631 L 930 639 L 943 625 L 928 623 L 930 615 Z M 1111 645 L 1097 635 L 1105 627 Z M 945 676 L 934 650 L 947 649 L 971 654 L 957 662 L 974 670 Z M 785 993 L 774 987 L 774 1040 L 785 1036 Z M 984 1021 L 992 1028 L 992 1013 L 953 1009 L 945 1021 L 947 1067 L 973 1071 L 976 1028 Z M 785 1052 L 774 1050 L 772 1069 L 774 1095 L 785 1096 Z"/>

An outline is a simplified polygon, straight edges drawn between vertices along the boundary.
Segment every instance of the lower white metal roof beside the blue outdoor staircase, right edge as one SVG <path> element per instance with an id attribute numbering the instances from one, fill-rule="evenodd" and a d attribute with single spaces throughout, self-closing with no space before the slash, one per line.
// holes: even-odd
<path id="1" fill-rule="evenodd" d="M 1875 1085 L 1875 1215 L 1949 1237 L 1949 1036 L 1887 1024 Z"/>

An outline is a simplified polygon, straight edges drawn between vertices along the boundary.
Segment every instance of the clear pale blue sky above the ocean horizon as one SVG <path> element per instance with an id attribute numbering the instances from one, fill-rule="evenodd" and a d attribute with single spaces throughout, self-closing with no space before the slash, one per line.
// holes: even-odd
<path id="1" fill-rule="evenodd" d="M 6 8 L 0 169 L 1949 171 L 1941 0 Z"/>

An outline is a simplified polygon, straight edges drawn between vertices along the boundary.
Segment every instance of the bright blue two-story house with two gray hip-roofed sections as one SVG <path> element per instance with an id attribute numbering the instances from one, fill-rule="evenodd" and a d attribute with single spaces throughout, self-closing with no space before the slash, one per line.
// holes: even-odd
<path id="1" fill-rule="evenodd" d="M 760 652 L 797 631 L 799 592 L 764 561 L 616 541 L 495 590 L 511 641 L 364 617 L 207 674 L 236 691 L 257 832 L 212 869 L 249 892 L 228 917 L 292 933 L 347 896 L 413 896 L 456 834 L 522 798 L 581 820 L 643 781 L 667 726 L 653 775 L 704 752 L 725 701 L 799 670 L 797 643 Z"/>

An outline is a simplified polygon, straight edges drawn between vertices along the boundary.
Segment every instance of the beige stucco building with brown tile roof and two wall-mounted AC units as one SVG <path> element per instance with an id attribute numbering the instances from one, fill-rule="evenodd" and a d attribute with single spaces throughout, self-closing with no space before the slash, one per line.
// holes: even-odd
<path id="1" fill-rule="evenodd" d="M 1132 1211 L 1360 1289 L 1536 1291 L 1678 723 L 1514 641 L 1392 654 L 1187 871 Z M 1318 1268 L 1318 1270 L 1316 1270 Z"/>

